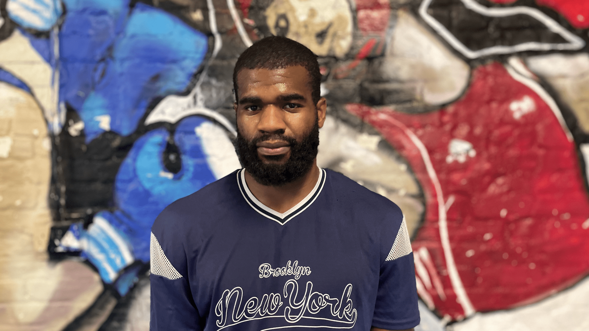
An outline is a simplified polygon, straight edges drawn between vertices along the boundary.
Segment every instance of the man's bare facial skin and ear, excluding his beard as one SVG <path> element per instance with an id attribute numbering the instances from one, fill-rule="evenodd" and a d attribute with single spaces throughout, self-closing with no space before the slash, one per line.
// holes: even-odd
<path id="1" fill-rule="evenodd" d="M 237 74 L 237 92 L 239 102 L 233 105 L 237 129 L 248 141 L 270 134 L 286 135 L 300 143 L 315 121 L 323 127 L 325 98 L 313 104 L 309 74 L 302 66 L 242 69 Z M 290 157 L 285 140 L 271 138 L 257 146 L 263 161 L 283 163 Z"/>

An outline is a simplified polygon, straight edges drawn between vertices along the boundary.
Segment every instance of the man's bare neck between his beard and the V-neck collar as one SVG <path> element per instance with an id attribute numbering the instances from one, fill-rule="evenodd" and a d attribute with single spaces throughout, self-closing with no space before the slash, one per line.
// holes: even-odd
<path id="1" fill-rule="evenodd" d="M 319 178 L 319 171 L 317 160 L 313 160 L 313 166 L 305 176 L 282 186 L 262 185 L 247 170 L 245 177 L 247 187 L 257 200 L 279 213 L 284 213 L 311 193 Z"/>

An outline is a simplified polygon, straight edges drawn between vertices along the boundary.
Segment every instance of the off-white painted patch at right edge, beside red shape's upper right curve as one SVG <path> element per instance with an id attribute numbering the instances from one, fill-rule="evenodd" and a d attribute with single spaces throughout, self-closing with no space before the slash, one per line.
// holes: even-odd
<path id="1" fill-rule="evenodd" d="M 530 57 L 527 65 L 548 81 L 589 133 L 589 54 L 550 54 Z"/>

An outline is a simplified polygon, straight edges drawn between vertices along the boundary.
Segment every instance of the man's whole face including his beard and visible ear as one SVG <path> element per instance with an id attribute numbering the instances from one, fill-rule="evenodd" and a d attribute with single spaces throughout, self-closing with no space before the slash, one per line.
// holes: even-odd
<path id="1" fill-rule="evenodd" d="M 313 104 L 303 67 L 243 69 L 234 104 L 241 163 L 264 185 L 281 185 L 306 174 L 317 155 L 325 99 Z"/>

